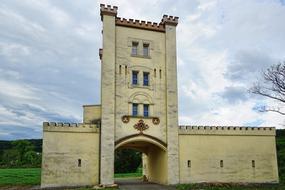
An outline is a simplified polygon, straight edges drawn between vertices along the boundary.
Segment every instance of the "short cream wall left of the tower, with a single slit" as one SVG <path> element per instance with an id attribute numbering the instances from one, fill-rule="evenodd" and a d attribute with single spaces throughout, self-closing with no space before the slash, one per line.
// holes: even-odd
<path id="1" fill-rule="evenodd" d="M 43 124 L 41 187 L 99 183 L 99 128 L 91 124 Z"/>

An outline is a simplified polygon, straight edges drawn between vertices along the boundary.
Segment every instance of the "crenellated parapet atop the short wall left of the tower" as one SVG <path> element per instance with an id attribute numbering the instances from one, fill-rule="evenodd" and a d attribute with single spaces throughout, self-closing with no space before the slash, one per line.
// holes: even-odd
<path id="1" fill-rule="evenodd" d="M 98 124 L 43 122 L 44 132 L 99 133 Z"/>

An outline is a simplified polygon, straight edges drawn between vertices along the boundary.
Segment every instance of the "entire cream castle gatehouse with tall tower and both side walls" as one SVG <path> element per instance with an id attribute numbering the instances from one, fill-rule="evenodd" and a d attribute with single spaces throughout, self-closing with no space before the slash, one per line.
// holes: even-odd
<path id="1" fill-rule="evenodd" d="M 42 187 L 112 185 L 114 152 L 127 147 L 161 184 L 278 182 L 274 128 L 178 126 L 178 17 L 100 8 L 101 104 L 83 106 L 82 124 L 44 122 Z"/>

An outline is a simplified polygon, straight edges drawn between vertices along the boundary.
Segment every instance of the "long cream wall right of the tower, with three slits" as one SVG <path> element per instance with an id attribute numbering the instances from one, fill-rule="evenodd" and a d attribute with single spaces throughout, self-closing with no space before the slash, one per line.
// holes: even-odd
<path id="1" fill-rule="evenodd" d="M 180 183 L 277 183 L 273 127 L 181 126 Z"/>

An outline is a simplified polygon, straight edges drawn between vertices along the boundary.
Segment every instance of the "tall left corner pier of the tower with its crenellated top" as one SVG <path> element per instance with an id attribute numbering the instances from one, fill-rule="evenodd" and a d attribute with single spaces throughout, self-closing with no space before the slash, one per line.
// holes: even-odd
<path id="1" fill-rule="evenodd" d="M 112 9 L 112 8 L 111 8 Z M 114 183 L 114 134 L 115 134 L 115 13 L 116 8 L 105 14 L 101 6 L 103 20 L 103 54 L 101 60 L 101 165 L 100 182 Z M 111 14 L 111 15 L 110 15 Z M 112 15 L 113 14 L 113 15 Z"/>

